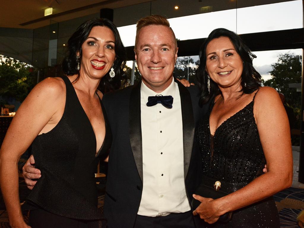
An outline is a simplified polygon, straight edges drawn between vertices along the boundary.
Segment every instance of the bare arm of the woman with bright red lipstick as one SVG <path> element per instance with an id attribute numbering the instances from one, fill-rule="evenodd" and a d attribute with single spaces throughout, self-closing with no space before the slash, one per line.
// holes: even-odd
<path id="1" fill-rule="evenodd" d="M 20 209 L 19 158 L 38 134 L 49 131 L 58 123 L 64 103 L 65 86 L 61 79 L 43 80 L 22 102 L 6 133 L 0 149 L 0 185 L 12 227 L 29 227 L 24 223 Z"/>

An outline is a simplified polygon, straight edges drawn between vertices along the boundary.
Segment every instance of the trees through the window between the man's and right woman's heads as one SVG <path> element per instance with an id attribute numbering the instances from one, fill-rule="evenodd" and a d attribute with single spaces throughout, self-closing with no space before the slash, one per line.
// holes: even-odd
<path id="1" fill-rule="evenodd" d="M 195 65 L 194 65 L 195 64 Z M 185 57 L 178 57 L 175 64 L 174 75 L 178 79 L 186 79 L 188 80 L 188 73 L 189 73 L 189 82 L 195 83 L 195 71 L 197 69 L 197 61 L 194 62 L 192 58 L 188 56 Z"/>

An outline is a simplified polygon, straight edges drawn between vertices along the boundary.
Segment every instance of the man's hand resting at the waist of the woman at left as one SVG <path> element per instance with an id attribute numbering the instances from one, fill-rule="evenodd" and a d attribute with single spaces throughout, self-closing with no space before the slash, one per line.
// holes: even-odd
<path id="1" fill-rule="evenodd" d="M 40 170 L 35 168 L 35 160 L 33 155 L 29 157 L 25 165 L 22 167 L 22 175 L 27 188 L 32 190 L 37 182 L 33 181 L 33 179 L 39 179 L 41 177 Z"/>

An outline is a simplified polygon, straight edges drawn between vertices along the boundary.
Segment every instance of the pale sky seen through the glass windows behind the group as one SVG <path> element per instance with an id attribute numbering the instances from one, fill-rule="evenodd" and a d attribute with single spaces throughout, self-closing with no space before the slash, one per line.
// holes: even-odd
<path id="1" fill-rule="evenodd" d="M 302 0 L 296 0 L 202 13 L 168 20 L 176 38 L 179 40 L 204 38 L 213 29 L 220 27 L 232 30 L 238 34 L 296 29 L 303 28 L 302 4 Z M 185 32 L 185 28 L 187 32 Z M 124 46 L 133 46 L 135 43 L 136 25 L 119 27 L 118 30 Z M 279 54 L 285 52 L 302 55 L 302 49 L 254 52 L 257 56 L 253 60 L 254 67 L 264 80 L 271 78 L 267 74 L 267 72 L 271 71 L 271 64 L 278 60 Z M 196 60 L 198 57 L 192 58 Z M 127 65 L 132 67 L 132 61 L 128 61 Z"/>

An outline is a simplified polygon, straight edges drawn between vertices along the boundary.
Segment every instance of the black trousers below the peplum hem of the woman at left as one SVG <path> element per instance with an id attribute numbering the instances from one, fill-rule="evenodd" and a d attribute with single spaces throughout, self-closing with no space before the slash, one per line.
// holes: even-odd
<path id="1" fill-rule="evenodd" d="M 31 210 L 29 225 L 32 228 L 88 228 L 88 224 L 47 212 L 43 209 Z"/>

